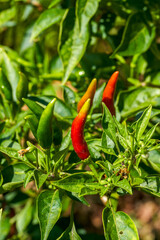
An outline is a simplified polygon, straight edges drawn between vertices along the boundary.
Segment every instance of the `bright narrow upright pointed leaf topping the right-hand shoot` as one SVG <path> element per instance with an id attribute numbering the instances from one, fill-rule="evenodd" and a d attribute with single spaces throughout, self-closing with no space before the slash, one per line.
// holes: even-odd
<path id="1" fill-rule="evenodd" d="M 146 127 L 149 123 L 149 119 L 151 116 L 152 106 L 149 106 L 142 114 L 142 116 L 138 119 L 136 124 L 136 138 L 139 141 L 146 130 Z"/>

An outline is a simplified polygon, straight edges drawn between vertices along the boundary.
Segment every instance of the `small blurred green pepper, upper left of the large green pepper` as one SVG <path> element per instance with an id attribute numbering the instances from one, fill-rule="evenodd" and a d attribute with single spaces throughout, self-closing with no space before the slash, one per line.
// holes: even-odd
<path id="1" fill-rule="evenodd" d="M 16 88 L 16 97 L 21 102 L 22 98 L 27 97 L 28 94 L 28 80 L 21 72 L 19 72 L 19 76 L 19 82 Z"/>

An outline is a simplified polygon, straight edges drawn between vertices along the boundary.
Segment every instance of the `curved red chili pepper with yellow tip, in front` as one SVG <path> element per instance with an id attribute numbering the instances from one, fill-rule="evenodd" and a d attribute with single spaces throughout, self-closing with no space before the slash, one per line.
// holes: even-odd
<path id="1" fill-rule="evenodd" d="M 81 108 L 79 114 L 74 119 L 71 127 L 71 139 L 75 152 L 78 157 L 82 160 L 90 156 L 87 143 L 84 139 L 84 125 L 86 122 L 87 114 L 89 112 L 91 105 L 91 99 L 88 99 L 83 107 Z"/>

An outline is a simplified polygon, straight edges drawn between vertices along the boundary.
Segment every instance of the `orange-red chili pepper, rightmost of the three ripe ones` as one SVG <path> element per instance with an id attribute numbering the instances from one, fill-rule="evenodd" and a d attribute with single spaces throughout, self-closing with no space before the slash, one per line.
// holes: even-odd
<path id="1" fill-rule="evenodd" d="M 104 89 L 102 102 L 108 107 L 109 111 L 111 112 L 112 116 L 115 116 L 115 108 L 114 108 L 114 92 L 116 88 L 116 83 L 118 79 L 119 72 L 116 71 L 112 74 L 111 78 L 109 79 L 107 86 Z"/>

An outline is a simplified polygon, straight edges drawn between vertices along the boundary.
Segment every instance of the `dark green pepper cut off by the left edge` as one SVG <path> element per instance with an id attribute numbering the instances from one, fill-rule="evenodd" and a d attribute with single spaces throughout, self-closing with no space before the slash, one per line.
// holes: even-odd
<path id="1" fill-rule="evenodd" d="M 7 80 L 6 76 L 3 74 L 0 68 L 0 89 L 8 101 L 12 101 L 12 88 Z"/>

